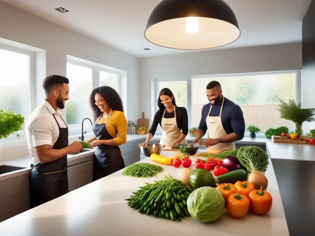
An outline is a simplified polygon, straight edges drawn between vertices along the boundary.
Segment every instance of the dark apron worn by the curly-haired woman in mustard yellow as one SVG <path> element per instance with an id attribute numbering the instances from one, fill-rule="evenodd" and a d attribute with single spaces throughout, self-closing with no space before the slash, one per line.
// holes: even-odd
<path id="1" fill-rule="evenodd" d="M 109 117 L 109 115 L 108 115 Z M 106 129 L 106 122 L 93 125 L 97 140 L 113 139 Z M 125 168 L 125 162 L 118 146 L 100 144 L 95 149 L 93 160 L 93 181 Z"/>

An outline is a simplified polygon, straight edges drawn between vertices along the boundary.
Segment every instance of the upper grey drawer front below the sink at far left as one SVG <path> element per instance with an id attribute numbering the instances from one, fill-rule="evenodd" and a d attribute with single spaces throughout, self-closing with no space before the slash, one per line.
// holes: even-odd
<path id="1" fill-rule="evenodd" d="M 0 181 L 0 199 L 26 191 L 29 187 L 30 174 Z"/>

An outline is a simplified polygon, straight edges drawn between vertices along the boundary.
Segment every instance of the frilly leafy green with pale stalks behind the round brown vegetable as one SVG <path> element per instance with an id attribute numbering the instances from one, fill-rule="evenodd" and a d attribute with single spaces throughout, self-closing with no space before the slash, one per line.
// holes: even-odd
<path id="1" fill-rule="evenodd" d="M 269 164 L 268 154 L 257 146 L 240 147 L 236 157 L 248 173 L 253 171 L 265 173 Z"/>

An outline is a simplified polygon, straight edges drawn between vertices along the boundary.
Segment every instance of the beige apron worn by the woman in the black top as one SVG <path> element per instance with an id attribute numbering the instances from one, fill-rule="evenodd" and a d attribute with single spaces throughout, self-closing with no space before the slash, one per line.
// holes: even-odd
<path id="1" fill-rule="evenodd" d="M 175 106 L 176 107 L 176 106 Z M 180 129 L 177 127 L 177 122 L 176 122 L 176 112 L 175 112 L 175 107 L 174 107 L 174 118 L 164 118 L 165 111 L 162 116 L 162 129 L 164 130 L 160 144 L 165 145 L 166 147 L 171 147 L 172 143 L 175 142 L 176 139 L 180 137 L 182 132 Z M 186 138 L 184 138 L 180 144 L 187 144 Z"/>

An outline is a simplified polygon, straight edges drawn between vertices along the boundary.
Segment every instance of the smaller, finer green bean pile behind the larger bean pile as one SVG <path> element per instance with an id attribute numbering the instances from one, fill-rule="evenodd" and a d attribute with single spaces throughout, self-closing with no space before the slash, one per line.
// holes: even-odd
<path id="1" fill-rule="evenodd" d="M 133 177 L 153 177 L 157 176 L 158 173 L 162 173 L 164 168 L 162 166 L 150 164 L 150 163 L 134 163 L 127 166 L 122 175 L 133 176 Z"/>

